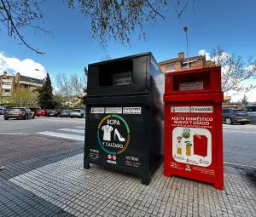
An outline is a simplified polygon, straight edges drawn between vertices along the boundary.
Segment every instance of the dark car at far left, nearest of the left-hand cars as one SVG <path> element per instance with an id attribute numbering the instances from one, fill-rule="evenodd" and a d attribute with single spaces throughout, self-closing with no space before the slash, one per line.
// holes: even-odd
<path id="1" fill-rule="evenodd" d="M 24 107 L 13 107 L 4 112 L 4 120 L 9 118 L 28 119 L 34 118 L 35 113 Z"/>

